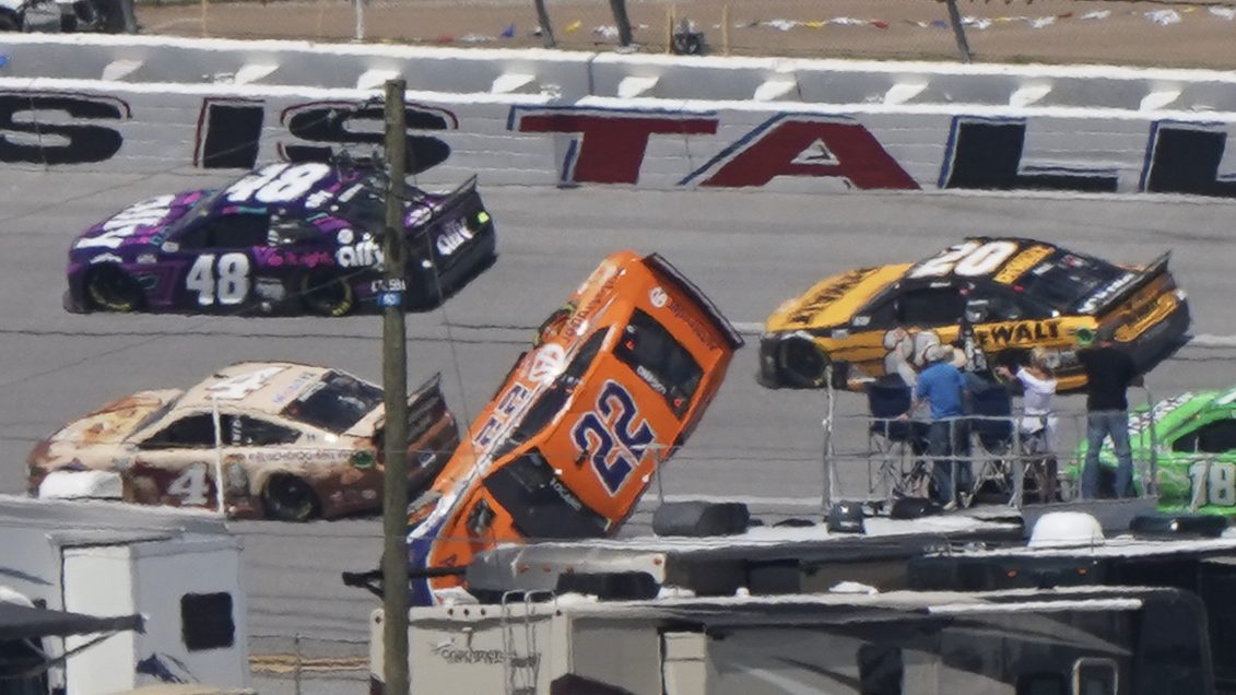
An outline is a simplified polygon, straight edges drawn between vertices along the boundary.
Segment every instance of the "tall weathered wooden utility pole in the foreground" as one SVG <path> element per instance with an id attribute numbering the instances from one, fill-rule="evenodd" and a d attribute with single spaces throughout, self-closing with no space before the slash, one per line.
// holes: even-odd
<path id="1" fill-rule="evenodd" d="M 382 234 L 384 287 L 382 309 L 382 388 L 386 401 L 384 475 L 382 479 L 382 657 L 388 695 L 407 695 L 408 683 L 408 343 L 404 326 L 404 265 L 408 249 L 403 230 L 404 161 L 408 127 L 403 94 L 408 83 L 386 83 L 386 229 Z"/>

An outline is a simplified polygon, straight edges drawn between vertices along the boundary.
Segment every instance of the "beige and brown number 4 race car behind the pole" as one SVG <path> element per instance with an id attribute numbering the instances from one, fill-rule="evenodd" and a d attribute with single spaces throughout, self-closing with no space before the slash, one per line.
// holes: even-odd
<path id="1" fill-rule="evenodd" d="M 459 444 L 430 378 L 408 398 L 409 488 L 419 493 Z M 382 390 L 339 370 L 241 362 L 188 391 L 112 401 L 41 441 L 31 495 L 119 497 L 305 521 L 382 507 Z"/>

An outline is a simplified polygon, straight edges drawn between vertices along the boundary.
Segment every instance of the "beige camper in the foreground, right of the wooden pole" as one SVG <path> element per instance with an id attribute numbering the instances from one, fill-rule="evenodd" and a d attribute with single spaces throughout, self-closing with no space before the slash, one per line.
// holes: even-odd
<path id="1" fill-rule="evenodd" d="M 572 594 L 414 608 L 409 668 L 413 693 L 1209 695 L 1205 626 L 1169 589 Z"/>

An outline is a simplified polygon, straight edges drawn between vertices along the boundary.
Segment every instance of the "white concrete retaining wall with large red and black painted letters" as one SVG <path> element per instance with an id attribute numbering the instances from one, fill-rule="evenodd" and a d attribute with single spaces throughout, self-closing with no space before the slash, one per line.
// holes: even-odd
<path id="1" fill-rule="evenodd" d="M 0 37 L 0 162 L 241 171 L 381 143 L 424 183 L 1236 197 L 1236 77 L 1110 67 Z"/>

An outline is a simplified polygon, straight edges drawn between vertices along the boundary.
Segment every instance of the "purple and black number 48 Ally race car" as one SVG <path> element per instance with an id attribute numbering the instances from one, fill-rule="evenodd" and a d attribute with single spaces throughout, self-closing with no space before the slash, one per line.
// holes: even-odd
<path id="1" fill-rule="evenodd" d="M 344 315 L 376 308 L 384 174 L 278 163 L 216 190 L 161 195 L 94 225 L 69 250 L 70 312 Z M 425 310 L 488 267 L 494 230 L 476 178 L 404 187 L 404 305 Z M 398 289 L 398 288 L 392 288 Z"/>

